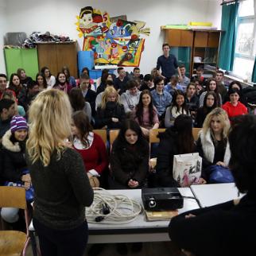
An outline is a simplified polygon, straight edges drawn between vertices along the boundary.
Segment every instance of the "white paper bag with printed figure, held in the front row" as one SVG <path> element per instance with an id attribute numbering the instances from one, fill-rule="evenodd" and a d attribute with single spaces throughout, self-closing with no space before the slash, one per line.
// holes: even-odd
<path id="1" fill-rule="evenodd" d="M 181 187 L 198 184 L 202 170 L 199 153 L 184 153 L 173 156 L 173 178 Z"/>

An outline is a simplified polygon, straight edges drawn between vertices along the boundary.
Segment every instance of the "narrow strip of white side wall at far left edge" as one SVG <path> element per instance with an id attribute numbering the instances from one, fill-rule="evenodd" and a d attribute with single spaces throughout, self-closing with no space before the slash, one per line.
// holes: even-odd
<path id="1" fill-rule="evenodd" d="M 3 54 L 3 36 L 6 31 L 6 1 L 0 0 L 0 73 L 6 73 L 6 64 Z"/>

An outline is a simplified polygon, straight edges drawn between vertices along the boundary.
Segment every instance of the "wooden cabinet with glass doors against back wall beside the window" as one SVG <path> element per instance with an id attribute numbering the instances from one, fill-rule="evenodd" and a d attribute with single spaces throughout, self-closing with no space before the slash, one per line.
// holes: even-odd
<path id="1" fill-rule="evenodd" d="M 173 54 L 178 52 L 176 58 L 185 64 L 190 76 L 199 66 L 212 76 L 218 65 L 220 34 L 220 30 L 165 29 L 165 41 Z"/>

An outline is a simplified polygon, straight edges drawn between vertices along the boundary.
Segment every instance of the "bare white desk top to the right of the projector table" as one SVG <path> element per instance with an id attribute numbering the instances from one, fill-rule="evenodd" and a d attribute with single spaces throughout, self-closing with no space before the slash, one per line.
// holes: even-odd
<path id="1" fill-rule="evenodd" d="M 200 207 L 221 204 L 243 196 L 239 196 L 235 183 L 192 185 L 190 188 L 199 200 Z"/>

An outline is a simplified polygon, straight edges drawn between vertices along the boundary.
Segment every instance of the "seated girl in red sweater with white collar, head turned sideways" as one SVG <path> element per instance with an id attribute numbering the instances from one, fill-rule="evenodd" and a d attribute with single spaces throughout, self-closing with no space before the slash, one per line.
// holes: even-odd
<path id="1" fill-rule="evenodd" d="M 89 180 L 92 176 L 99 178 L 108 165 L 106 145 L 102 138 L 93 132 L 84 111 L 72 114 L 72 135 L 73 147 L 83 158 Z"/>

